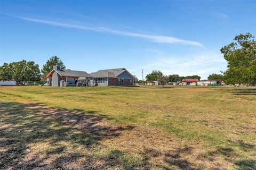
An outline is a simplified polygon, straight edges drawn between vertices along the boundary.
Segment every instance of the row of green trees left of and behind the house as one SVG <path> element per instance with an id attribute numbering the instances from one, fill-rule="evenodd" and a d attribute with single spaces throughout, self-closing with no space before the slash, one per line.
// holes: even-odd
<path id="1" fill-rule="evenodd" d="M 13 63 L 4 63 L 0 66 L 0 81 L 15 81 L 17 86 L 25 84 L 43 84 L 47 74 L 50 73 L 54 65 L 60 65 L 65 69 L 65 65 L 57 56 L 52 56 L 43 65 L 40 71 L 39 65 L 34 61 L 22 60 Z"/>

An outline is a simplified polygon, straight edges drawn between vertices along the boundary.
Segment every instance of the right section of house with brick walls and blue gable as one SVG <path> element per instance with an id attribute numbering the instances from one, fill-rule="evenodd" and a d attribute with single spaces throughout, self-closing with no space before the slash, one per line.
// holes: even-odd
<path id="1" fill-rule="evenodd" d="M 125 68 L 99 70 L 91 75 L 99 86 L 135 86 L 135 77 Z"/>

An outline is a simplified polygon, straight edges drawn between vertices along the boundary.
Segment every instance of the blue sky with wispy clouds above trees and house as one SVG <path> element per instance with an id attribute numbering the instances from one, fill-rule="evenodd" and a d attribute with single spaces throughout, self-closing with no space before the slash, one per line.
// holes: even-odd
<path id="1" fill-rule="evenodd" d="M 67 69 L 125 67 L 206 79 L 220 48 L 256 35 L 256 1 L 1 1 L 0 64 L 57 55 Z"/>

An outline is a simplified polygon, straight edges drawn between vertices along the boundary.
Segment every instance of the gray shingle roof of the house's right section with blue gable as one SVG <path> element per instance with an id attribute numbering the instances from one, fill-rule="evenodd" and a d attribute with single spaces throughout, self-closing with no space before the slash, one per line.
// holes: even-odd
<path id="1" fill-rule="evenodd" d="M 119 74 L 123 72 L 129 73 L 125 68 L 119 69 L 107 69 L 107 70 L 99 70 L 97 72 L 91 73 L 94 78 L 106 78 L 106 77 L 117 77 Z M 132 77 L 133 75 L 129 73 Z"/>

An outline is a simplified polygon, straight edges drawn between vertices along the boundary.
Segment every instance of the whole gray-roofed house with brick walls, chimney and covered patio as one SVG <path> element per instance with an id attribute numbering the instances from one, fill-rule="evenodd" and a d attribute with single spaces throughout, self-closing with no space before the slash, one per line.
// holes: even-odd
<path id="1" fill-rule="evenodd" d="M 47 75 L 48 86 L 135 86 L 135 77 L 126 69 L 99 70 L 88 74 L 85 71 L 64 70 L 53 66 Z"/>

